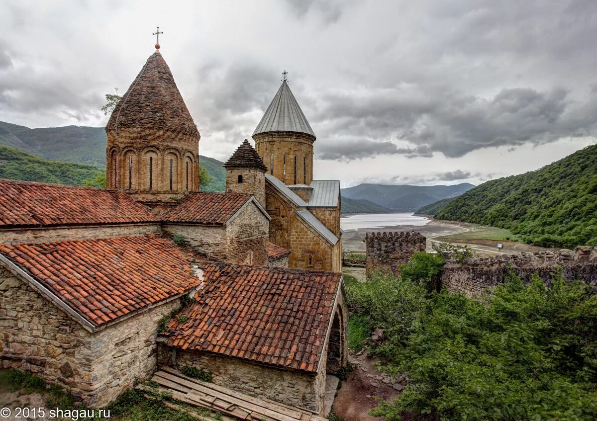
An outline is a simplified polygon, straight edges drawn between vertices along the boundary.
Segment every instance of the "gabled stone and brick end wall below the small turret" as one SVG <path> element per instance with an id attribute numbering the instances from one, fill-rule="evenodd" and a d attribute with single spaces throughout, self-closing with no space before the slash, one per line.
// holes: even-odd
<path id="1" fill-rule="evenodd" d="M 267 265 L 269 220 L 251 202 L 226 228 L 226 261 L 238 264 Z"/>

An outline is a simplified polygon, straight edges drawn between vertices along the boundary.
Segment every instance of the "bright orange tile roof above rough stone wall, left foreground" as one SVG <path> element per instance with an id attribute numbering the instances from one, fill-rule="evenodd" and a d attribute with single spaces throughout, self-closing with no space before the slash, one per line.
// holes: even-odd
<path id="1" fill-rule="evenodd" d="M 1 244 L 0 253 L 96 327 L 201 282 L 192 253 L 158 236 Z"/>

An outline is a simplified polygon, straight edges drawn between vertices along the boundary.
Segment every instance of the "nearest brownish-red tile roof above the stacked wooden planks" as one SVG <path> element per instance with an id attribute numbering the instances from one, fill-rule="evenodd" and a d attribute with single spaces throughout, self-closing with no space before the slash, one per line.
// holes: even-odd
<path id="1" fill-rule="evenodd" d="M 198 263 L 196 301 L 173 318 L 167 343 L 258 363 L 316 372 L 341 274 Z"/>

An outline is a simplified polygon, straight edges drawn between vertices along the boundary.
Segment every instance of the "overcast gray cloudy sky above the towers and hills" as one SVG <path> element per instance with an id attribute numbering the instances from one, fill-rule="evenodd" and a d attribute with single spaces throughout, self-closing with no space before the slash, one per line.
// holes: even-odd
<path id="1" fill-rule="evenodd" d="M 225 160 L 282 70 L 310 122 L 315 177 L 478 184 L 597 143 L 597 1 L 2 2 L 0 120 L 104 126 L 161 52 Z"/>

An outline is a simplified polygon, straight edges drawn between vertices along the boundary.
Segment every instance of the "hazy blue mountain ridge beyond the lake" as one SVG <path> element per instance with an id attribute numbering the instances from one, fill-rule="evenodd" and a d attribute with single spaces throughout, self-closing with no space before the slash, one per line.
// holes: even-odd
<path id="1" fill-rule="evenodd" d="M 475 185 L 359 184 L 341 189 L 342 197 L 369 200 L 394 212 L 414 212 L 441 199 L 460 196 Z"/>

